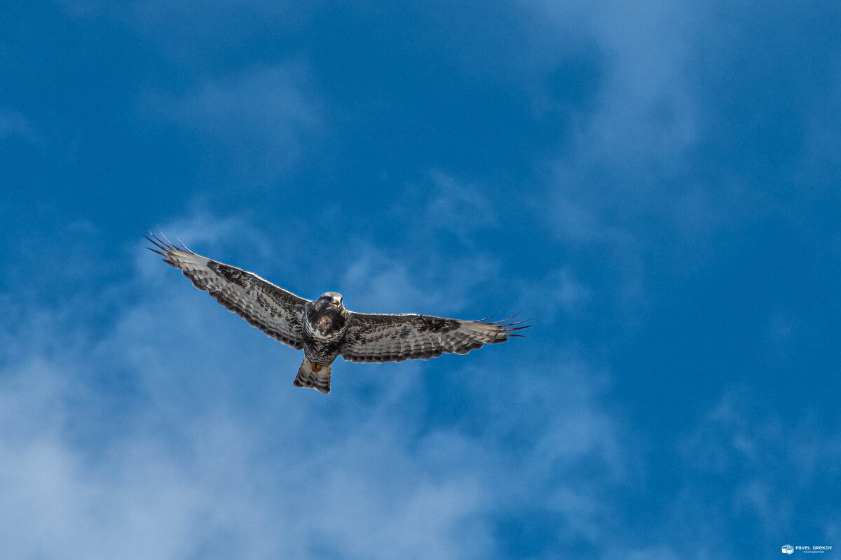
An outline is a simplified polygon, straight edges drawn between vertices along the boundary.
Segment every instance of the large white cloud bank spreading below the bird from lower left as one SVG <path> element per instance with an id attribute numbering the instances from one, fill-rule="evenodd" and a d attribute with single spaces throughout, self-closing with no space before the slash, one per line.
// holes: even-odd
<path id="1" fill-rule="evenodd" d="M 229 233 L 259 239 L 237 218 L 189 217 L 163 229 L 183 229 L 211 247 Z M 615 421 L 588 396 L 582 372 L 547 363 L 547 376 L 517 366 L 502 379 L 479 366 L 493 363 L 481 354 L 479 362 L 437 361 L 439 379 L 444 372 L 471 379 L 453 394 L 473 390 L 459 398 L 477 421 L 497 419 L 482 421 L 479 432 L 470 415 L 426 423 L 432 396 L 420 373 L 431 363 L 364 371 L 337 364 L 340 383 L 325 398 L 291 386 L 298 353 L 216 306 L 154 255 L 142 256 L 129 259 L 137 259 L 134 272 L 114 288 L 130 297 L 114 308 L 107 331 L 77 322 L 70 335 L 62 321 L 0 332 L 4 346 L 19 348 L 0 368 L 4 550 L 68 558 L 489 557 L 499 539 L 495 511 L 522 507 L 558 511 L 574 534 L 604 536 L 600 491 L 552 482 L 588 461 L 621 471 Z M 258 252 L 254 268 L 264 258 Z M 349 284 L 368 285 L 372 302 L 399 288 L 399 279 L 378 283 L 382 267 L 346 267 Z M 407 282 L 405 290 L 417 289 Z M 56 313 L 37 302 L 24 311 L 24 322 Z M 68 336 L 75 342 L 62 345 Z M 563 413 L 558 402 L 568 403 Z M 512 406 L 528 432 L 500 414 Z M 509 456 L 505 437 L 528 443 Z"/>

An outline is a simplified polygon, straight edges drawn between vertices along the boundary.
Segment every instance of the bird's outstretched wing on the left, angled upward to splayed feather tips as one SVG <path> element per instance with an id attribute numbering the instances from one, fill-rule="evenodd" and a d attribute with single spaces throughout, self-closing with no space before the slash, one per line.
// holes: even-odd
<path id="1" fill-rule="evenodd" d="M 268 280 L 230 264 L 208 259 L 183 247 L 177 248 L 166 240 L 147 236 L 163 261 L 181 270 L 193 280 L 193 285 L 216 298 L 229 311 L 245 319 L 272 338 L 296 350 L 304 348 L 302 321 L 303 297 L 283 290 Z"/>

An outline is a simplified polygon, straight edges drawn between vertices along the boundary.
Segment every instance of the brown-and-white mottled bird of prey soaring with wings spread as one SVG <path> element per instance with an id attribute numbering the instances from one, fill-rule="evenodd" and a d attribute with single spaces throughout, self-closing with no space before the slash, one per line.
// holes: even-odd
<path id="1" fill-rule="evenodd" d="M 307 300 L 252 272 L 195 254 L 183 243 L 179 248 L 151 233 L 146 239 L 154 245 L 149 250 L 181 270 L 199 290 L 268 336 L 303 349 L 304 361 L 293 385 L 325 395 L 330 393 L 333 361 L 340 355 L 352 362 L 402 362 L 464 354 L 520 337 L 515 331 L 530 327 L 511 322 L 513 317 L 462 321 L 415 313 L 357 313 L 347 310 L 335 291 Z"/>

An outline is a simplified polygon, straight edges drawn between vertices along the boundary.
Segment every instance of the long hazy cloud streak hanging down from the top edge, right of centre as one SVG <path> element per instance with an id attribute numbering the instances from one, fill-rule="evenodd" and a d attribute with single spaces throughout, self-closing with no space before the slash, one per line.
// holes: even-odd
<path id="1" fill-rule="evenodd" d="M 587 60 L 599 77 L 587 102 L 564 117 L 569 134 L 542 162 L 545 199 L 536 215 L 557 243 L 599 254 L 616 270 L 613 306 L 634 313 L 647 301 L 651 247 L 673 237 L 703 237 L 721 212 L 706 185 L 685 178 L 702 133 L 693 60 L 705 8 L 667 2 L 540 6 L 542 25 L 579 39 L 578 49 L 590 52 Z"/>

